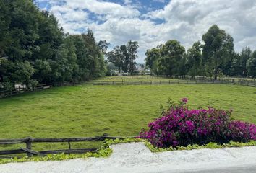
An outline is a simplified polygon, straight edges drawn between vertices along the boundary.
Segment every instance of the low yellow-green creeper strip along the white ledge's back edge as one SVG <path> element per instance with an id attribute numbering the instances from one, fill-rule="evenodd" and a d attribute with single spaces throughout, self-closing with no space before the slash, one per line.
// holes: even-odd
<path id="1" fill-rule="evenodd" d="M 67 159 L 88 159 L 89 157 L 108 157 L 112 154 L 112 149 L 110 148 L 111 145 L 119 144 L 119 143 L 132 143 L 132 142 L 142 142 L 145 143 L 145 146 L 150 149 L 152 152 L 163 152 L 163 151 L 181 151 L 181 150 L 192 150 L 192 149 L 203 149 L 203 148 L 231 148 L 231 147 L 244 147 L 244 146 L 256 146 L 256 141 L 249 141 L 247 143 L 240 143 L 230 141 L 229 143 L 208 143 L 202 146 L 199 145 L 189 145 L 189 146 L 177 146 L 177 147 L 169 147 L 169 148 L 158 148 L 153 146 L 152 143 L 149 141 L 142 139 L 142 138 L 124 138 L 124 139 L 115 139 L 115 140 L 105 140 L 103 144 L 95 153 L 85 153 L 85 154 L 48 154 L 47 156 L 39 157 L 27 157 L 24 156 L 22 158 L 13 157 L 12 159 L 0 159 L 0 164 L 7 164 L 12 162 L 27 162 L 27 161 L 63 161 Z"/>

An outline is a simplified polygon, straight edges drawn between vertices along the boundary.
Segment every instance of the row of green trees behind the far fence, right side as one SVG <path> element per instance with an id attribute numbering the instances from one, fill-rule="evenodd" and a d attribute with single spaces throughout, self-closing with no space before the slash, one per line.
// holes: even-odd
<path id="1" fill-rule="evenodd" d="M 155 75 L 165 76 L 256 76 L 256 50 L 234 51 L 234 40 L 217 25 L 202 35 L 186 52 L 177 40 L 147 50 L 146 66 Z"/>

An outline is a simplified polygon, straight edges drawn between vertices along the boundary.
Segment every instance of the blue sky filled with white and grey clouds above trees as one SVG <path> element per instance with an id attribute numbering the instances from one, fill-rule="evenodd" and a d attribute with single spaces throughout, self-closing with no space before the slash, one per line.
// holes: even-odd
<path id="1" fill-rule="evenodd" d="M 138 41 L 137 63 L 145 51 L 179 40 L 190 48 L 214 24 L 234 38 L 238 52 L 256 49 L 256 0 L 35 0 L 52 12 L 64 32 L 79 34 L 88 28 L 97 41 L 124 45 Z"/>

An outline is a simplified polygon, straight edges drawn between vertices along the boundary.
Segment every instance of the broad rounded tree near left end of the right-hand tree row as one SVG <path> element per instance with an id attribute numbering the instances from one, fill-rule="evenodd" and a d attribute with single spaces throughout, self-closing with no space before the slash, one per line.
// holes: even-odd
<path id="1" fill-rule="evenodd" d="M 168 40 L 160 49 L 161 58 L 158 58 L 158 71 L 166 76 L 179 75 L 185 48 L 177 40 Z"/>

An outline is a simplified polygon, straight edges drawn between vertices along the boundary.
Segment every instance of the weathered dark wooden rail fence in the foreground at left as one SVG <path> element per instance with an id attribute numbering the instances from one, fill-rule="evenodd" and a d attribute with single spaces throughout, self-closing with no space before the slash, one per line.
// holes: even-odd
<path id="1" fill-rule="evenodd" d="M 0 151 L 0 158 L 11 158 L 10 154 L 27 154 L 27 156 L 45 156 L 46 154 L 85 154 L 86 152 L 96 152 L 98 148 L 72 148 L 72 142 L 82 141 L 104 141 L 105 139 L 116 139 L 124 137 L 110 137 L 110 136 L 95 136 L 86 138 L 20 138 L 20 139 L 1 139 L 1 145 L 13 145 L 17 143 L 25 143 L 26 148 L 18 148 L 14 150 Z M 48 150 L 48 151 L 34 151 L 32 143 L 68 143 L 68 149 Z M 4 155 L 4 156 L 3 156 Z"/>

